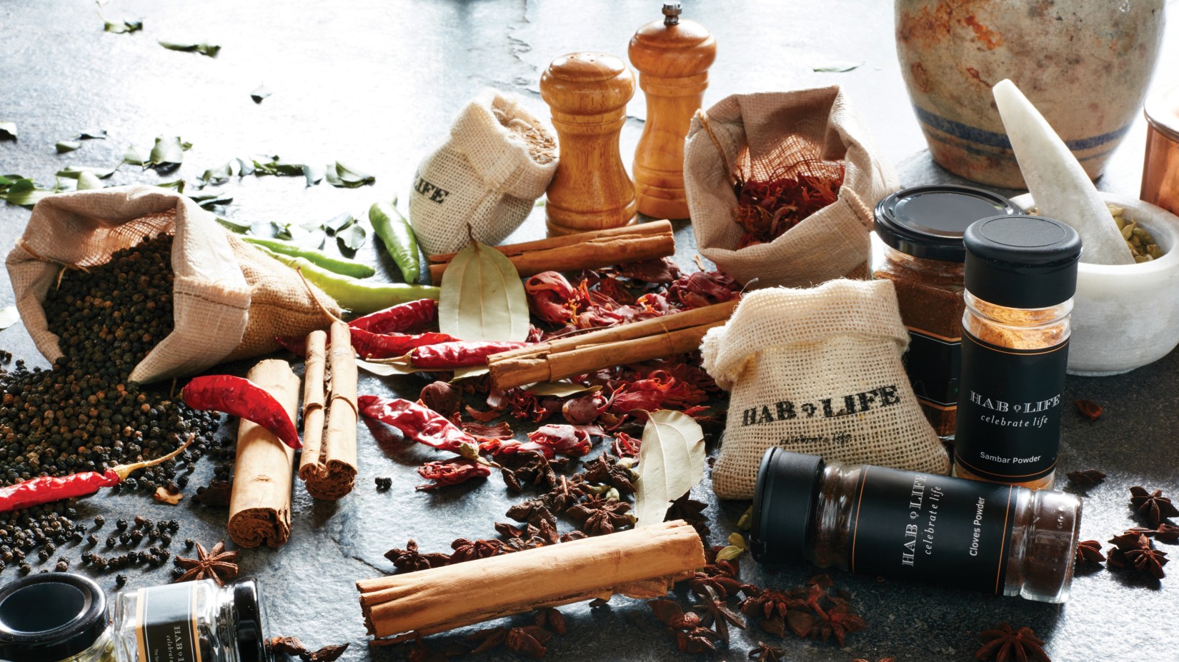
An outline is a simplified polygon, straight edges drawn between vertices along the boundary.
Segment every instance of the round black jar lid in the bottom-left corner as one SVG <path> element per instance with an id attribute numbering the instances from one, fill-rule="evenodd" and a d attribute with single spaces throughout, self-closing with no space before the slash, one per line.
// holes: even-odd
<path id="1" fill-rule="evenodd" d="M 8 662 L 78 655 L 107 624 L 103 589 L 81 575 L 29 575 L 0 589 L 0 658 Z"/>

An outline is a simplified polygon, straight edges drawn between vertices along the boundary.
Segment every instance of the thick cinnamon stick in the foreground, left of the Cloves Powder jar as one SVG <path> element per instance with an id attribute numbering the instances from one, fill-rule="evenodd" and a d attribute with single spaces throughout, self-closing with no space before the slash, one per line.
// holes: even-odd
<path id="1" fill-rule="evenodd" d="M 704 567 L 684 521 L 356 582 L 370 635 L 433 634 L 611 595 L 652 598 Z M 403 637 L 399 637 L 403 638 Z"/>

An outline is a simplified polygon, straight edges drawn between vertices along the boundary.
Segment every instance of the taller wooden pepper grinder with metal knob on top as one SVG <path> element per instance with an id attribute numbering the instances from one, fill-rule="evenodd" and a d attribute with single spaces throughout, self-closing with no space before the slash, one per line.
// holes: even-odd
<path id="1" fill-rule="evenodd" d="M 631 64 L 647 97 L 647 121 L 634 150 L 639 212 L 687 218 L 684 196 L 684 138 L 709 86 L 717 40 L 696 21 L 679 20 L 679 2 L 664 2 L 664 20 L 631 38 Z"/>

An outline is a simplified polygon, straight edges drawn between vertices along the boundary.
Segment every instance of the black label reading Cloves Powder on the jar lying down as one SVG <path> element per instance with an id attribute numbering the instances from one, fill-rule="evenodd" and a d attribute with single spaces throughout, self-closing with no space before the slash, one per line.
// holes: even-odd
<path id="1" fill-rule="evenodd" d="M 1015 486 L 864 466 L 850 569 L 1002 595 Z"/>

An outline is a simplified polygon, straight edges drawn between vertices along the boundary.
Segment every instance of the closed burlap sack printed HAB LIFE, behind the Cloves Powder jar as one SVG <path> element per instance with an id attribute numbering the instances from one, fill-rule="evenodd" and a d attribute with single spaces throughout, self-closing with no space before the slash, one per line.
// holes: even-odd
<path id="1" fill-rule="evenodd" d="M 909 332 L 890 280 L 746 294 L 704 337 L 704 369 L 731 391 L 712 485 L 751 498 L 777 445 L 825 459 L 946 474 L 949 456 L 909 385 Z"/>

